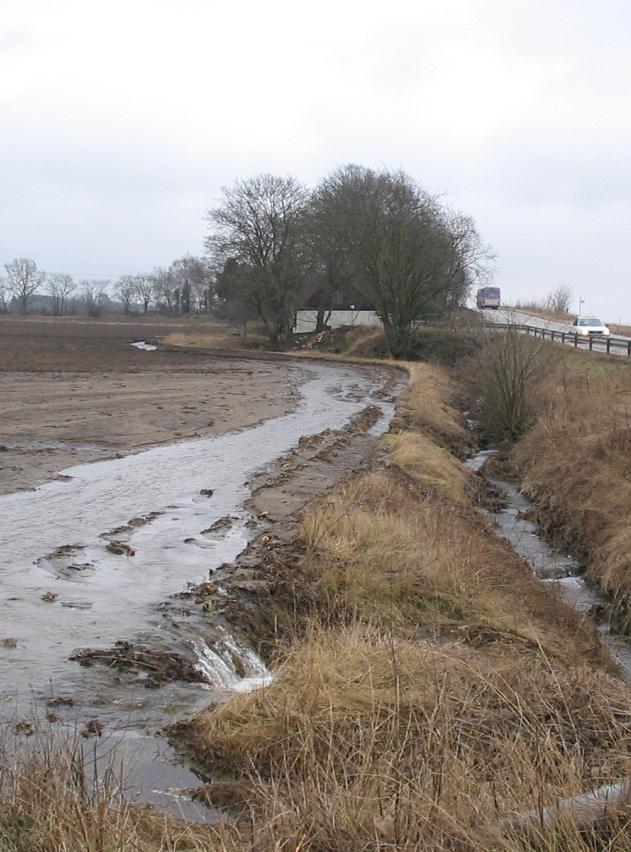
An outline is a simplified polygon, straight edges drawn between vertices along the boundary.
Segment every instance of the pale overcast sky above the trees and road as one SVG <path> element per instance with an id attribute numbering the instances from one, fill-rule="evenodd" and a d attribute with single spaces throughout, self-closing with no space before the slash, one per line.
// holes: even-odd
<path id="1" fill-rule="evenodd" d="M 631 321 L 625 0 L 0 0 L 0 263 L 199 254 L 222 185 L 403 168 L 509 299 Z"/>

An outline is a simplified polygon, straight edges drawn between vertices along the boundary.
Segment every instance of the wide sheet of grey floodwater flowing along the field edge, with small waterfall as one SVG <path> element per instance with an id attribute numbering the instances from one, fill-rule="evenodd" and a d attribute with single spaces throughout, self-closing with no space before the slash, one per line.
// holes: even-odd
<path id="1" fill-rule="evenodd" d="M 90 738 L 89 747 L 96 743 L 107 755 L 116 745 L 131 794 L 187 818 L 212 818 L 179 792 L 199 780 L 158 732 L 231 691 L 263 686 L 271 675 L 243 639 L 224 631 L 210 647 L 195 635 L 195 622 L 183 628 L 165 620 L 163 602 L 232 562 L 257 532 L 247 508 L 255 474 L 304 436 L 343 429 L 369 405 L 381 410 L 371 435 L 385 431 L 393 413 L 385 370 L 300 369 L 301 400 L 290 414 L 71 467 L 38 488 L 0 497 L 6 731 L 53 711 L 56 731 L 79 731 L 96 718 L 102 736 Z M 70 659 L 76 649 L 138 637 L 168 645 L 176 632 L 197 682 L 145 689 L 113 669 Z"/>

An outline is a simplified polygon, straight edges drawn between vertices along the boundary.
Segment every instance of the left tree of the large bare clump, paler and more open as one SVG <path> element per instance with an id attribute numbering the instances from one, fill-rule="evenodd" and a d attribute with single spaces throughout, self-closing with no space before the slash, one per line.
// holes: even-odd
<path id="1" fill-rule="evenodd" d="M 210 210 L 206 248 L 217 271 L 228 260 L 240 266 L 244 298 L 254 307 L 272 343 L 285 337 L 302 286 L 302 226 L 308 196 L 291 177 L 258 175 L 223 189 Z"/>

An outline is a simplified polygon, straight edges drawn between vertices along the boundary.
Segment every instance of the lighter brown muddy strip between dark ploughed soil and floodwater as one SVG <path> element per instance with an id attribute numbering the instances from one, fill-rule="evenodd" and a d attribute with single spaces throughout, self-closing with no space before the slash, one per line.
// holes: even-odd
<path id="1" fill-rule="evenodd" d="M 71 465 L 178 439 L 246 429 L 296 407 L 291 363 L 190 358 L 134 373 L 0 372 L 0 494 Z"/>

